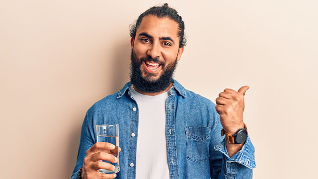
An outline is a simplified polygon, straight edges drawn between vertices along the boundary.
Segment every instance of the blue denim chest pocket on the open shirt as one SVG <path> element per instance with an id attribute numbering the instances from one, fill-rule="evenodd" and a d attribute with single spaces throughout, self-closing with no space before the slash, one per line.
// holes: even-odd
<path id="1" fill-rule="evenodd" d="M 210 157 L 209 143 L 211 127 L 186 127 L 187 158 L 203 163 Z"/>

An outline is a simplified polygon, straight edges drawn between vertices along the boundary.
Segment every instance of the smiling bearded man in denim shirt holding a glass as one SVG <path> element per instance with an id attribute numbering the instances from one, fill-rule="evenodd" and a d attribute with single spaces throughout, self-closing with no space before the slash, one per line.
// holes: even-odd
<path id="1" fill-rule="evenodd" d="M 215 105 L 172 79 L 184 23 L 166 3 L 142 13 L 131 37 L 131 82 L 87 111 L 72 179 L 252 178 L 254 147 L 242 119 L 248 87 L 225 89 Z M 96 143 L 98 124 L 120 126 L 117 174 L 98 172 L 114 170 L 101 160 L 118 160 L 115 146 Z"/>

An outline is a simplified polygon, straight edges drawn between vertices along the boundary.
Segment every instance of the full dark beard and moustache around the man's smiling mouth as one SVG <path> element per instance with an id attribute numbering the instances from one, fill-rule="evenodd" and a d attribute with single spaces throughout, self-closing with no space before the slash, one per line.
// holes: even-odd
<path id="1" fill-rule="evenodd" d="M 167 89 L 173 83 L 173 73 L 177 66 L 177 58 L 171 64 L 166 64 L 160 62 L 158 58 L 153 59 L 151 56 L 141 57 L 138 59 L 137 55 L 134 52 L 134 49 L 131 51 L 131 64 L 130 64 L 130 81 L 131 83 L 141 92 L 161 92 Z M 162 68 L 162 74 L 158 79 L 155 78 L 155 74 L 145 71 L 146 76 L 143 77 L 143 72 L 141 71 L 141 65 L 143 61 L 153 61 L 159 63 Z M 166 66 L 166 67 L 165 67 Z"/>

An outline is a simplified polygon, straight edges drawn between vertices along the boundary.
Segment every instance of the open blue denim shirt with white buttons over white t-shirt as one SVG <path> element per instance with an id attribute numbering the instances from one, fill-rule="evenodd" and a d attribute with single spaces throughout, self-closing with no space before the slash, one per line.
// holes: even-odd
<path id="1" fill-rule="evenodd" d="M 138 105 L 131 96 L 130 86 L 128 82 L 119 92 L 88 109 L 71 179 L 78 178 L 86 151 L 96 142 L 95 126 L 99 124 L 119 124 L 120 172 L 116 179 L 136 178 Z M 165 102 L 165 136 L 170 179 L 251 179 L 255 159 L 249 137 L 230 158 L 215 104 L 184 89 L 175 80 L 169 93 Z"/>

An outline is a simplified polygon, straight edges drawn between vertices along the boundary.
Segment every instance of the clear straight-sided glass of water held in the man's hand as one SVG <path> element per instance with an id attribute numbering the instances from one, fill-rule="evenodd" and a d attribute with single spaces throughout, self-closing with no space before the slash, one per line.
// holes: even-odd
<path id="1" fill-rule="evenodd" d="M 115 157 L 117 157 L 118 162 L 117 163 L 111 163 L 109 161 L 104 161 L 110 163 L 111 165 L 115 166 L 114 171 L 109 171 L 105 169 L 99 169 L 98 171 L 100 173 L 104 174 L 112 174 L 112 173 L 118 173 L 119 172 L 119 130 L 118 130 L 118 124 L 112 124 L 112 125 L 96 125 L 96 131 L 97 131 L 97 142 L 108 142 L 111 144 L 114 144 L 116 147 L 113 151 L 116 151 Z"/>

